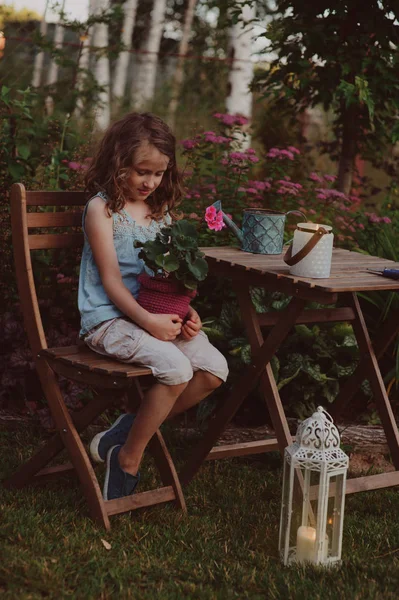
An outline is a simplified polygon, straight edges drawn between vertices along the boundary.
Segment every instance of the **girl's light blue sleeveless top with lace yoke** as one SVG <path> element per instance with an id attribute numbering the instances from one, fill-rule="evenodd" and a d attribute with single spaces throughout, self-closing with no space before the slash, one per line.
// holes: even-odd
<path id="1" fill-rule="evenodd" d="M 106 195 L 102 192 L 99 192 L 96 196 L 102 198 L 104 202 L 107 199 Z M 96 196 L 93 196 L 93 198 Z M 100 273 L 94 261 L 90 243 L 86 235 L 85 219 L 87 207 L 93 198 L 90 198 L 86 204 L 82 219 L 84 245 L 80 263 L 78 290 L 78 306 L 81 316 L 80 336 L 85 335 L 103 321 L 123 316 L 123 313 L 108 298 L 104 290 Z M 155 239 L 156 234 L 161 228 L 171 223 L 171 218 L 166 213 L 163 221 L 152 219 L 148 227 L 145 227 L 136 223 L 127 211 L 122 209 L 120 213 L 112 213 L 112 219 L 114 246 L 122 280 L 127 289 L 137 298 L 140 288 L 137 277 L 145 270 L 145 265 L 143 260 L 138 256 L 140 248 L 135 248 L 134 242 L 136 240 L 146 242 L 147 240 Z"/>

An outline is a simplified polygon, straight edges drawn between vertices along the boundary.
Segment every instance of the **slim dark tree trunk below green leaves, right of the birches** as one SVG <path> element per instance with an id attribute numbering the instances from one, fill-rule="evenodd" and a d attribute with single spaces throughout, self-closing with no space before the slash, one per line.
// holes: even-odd
<path id="1" fill-rule="evenodd" d="M 350 194 L 357 152 L 356 132 L 358 127 L 357 109 L 355 106 L 342 111 L 342 147 L 339 159 L 337 189 Z"/>

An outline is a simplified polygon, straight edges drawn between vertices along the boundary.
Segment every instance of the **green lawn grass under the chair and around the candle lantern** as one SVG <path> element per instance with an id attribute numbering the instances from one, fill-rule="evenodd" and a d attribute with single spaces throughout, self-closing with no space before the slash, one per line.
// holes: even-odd
<path id="1" fill-rule="evenodd" d="M 37 443 L 28 429 L 0 432 L 0 477 Z M 142 472 L 145 489 L 156 476 L 149 461 Z M 398 492 L 347 497 L 342 566 L 326 570 L 280 562 L 274 453 L 206 463 L 186 489 L 188 516 L 157 506 L 111 518 L 109 533 L 88 518 L 74 479 L 0 488 L 0 597 L 396 599 Z"/>

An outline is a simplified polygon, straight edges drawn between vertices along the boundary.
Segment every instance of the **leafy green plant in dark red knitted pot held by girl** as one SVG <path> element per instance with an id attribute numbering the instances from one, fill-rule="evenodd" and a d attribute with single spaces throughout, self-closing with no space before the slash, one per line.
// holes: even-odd
<path id="1" fill-rule="evenodd" d="M 151 313 L 176 313 L 184 319 L 198 282 L 208 273 L 195 226 L 176 221 L 162 228 L 154 240 L 136 241 L 135 247 L 141 248 L 139 257 L 153 273 L 139 275 L 138 303 Z"/>

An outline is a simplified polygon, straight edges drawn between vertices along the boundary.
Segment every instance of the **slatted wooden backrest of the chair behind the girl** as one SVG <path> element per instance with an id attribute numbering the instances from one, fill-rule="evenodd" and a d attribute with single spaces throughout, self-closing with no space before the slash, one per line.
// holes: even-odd
<path id="1" fill-rule="evenodd" d="M 34 358 L 47 348 L 32 270 L 31 250 L 76 248 L 83 245 L 81 226 L 84 192 L 27 191 L 11 188 L 11 226 L 21 310 Z M 28 207 L 34 207 L 32 211 Z M 54 229 L 62 228 L 62 233 Z M 48 231 L 50 230 L 50 231 Z"/>

